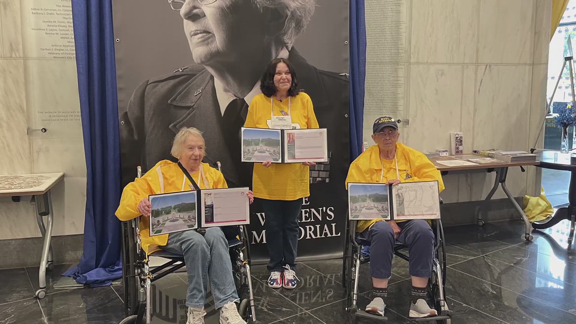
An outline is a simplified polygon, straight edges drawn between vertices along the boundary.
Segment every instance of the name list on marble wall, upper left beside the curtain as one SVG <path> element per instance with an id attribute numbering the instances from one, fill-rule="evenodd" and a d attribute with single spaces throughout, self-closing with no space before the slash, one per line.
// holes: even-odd
<path id="1" fill-rule="evenodd" d="M 70 0 L 25 0 L 21 10 L 26 58 L 76 58 Z"/>

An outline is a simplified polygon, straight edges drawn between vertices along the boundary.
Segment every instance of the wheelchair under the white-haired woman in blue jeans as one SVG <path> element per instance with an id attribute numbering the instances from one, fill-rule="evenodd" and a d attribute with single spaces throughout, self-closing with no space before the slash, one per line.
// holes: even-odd
<path id="1" fill-rule="evenodd" d="M 216 163 L 221 170 L 219 162 Z M 138 178 L 142 176 L 142 169 L 138 167 Z M 142 217 L 142 216 L 141 216 Z M 122 284 L 124 288 L 124 311 L 126 318 L 120 324 L 150 324 L 153 302 L 152 282 L 176 272 L 185 266 L 184 256 L 169 253 L 164 250 L 150 254 L 151 257 L 168 259 L 168 262 L 150 268 L 148 258 L 141 247 L 139 218 L 122 222 Z M 250 273 L 250 250 L 247 228 L 242 225 L 235 227 L 235 238 L 228 239 L 230 261 L 232 261 L 232 274 L 240 305 L 238 313 L 251 324 L 260 324 L 256 321 L 255 303 Z M 201 232 L 202 228 L 197 229 Z M 160 301 L 162 302 L 162 301 Z M 176 306 L 174 306 L 176 308 Z M 178 321 L 176 320 L 175 323 Z"/>

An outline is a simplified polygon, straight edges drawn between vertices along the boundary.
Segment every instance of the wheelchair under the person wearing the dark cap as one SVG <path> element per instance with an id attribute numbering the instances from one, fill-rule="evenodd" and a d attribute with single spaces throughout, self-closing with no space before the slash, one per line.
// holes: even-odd
<path id="1" fill-rule="evenodd" d="M 440 202 L 442 204 L 442 201 Z M 370 262 L 370 243 L 364 239 L 361 233 L 356 232 L 358 221 L 349 220 L 346 225 L 344 239 L 344 260 L 342 263 L 342 286 L 346 291 L 346 311 L 351 324 L 355 324 L 358 317 L 387 321 L 385 316 L 369 314 L 358 308 L 358 277 L 360 266 Z M 432 220 L 434 230 L 434 259 L 432 265 L 432 276 L 428 280 L 427 291 L 430 306 L 438 312 L 438 316 L 411 318 L 412 322 L 436 321 L 437 324 L 450 324 L 452 310 L 448 309 L 446 303 L 446 246 L 444 242 L 444 228 L 441 220 Z M 394 246 L 394 255 L 406 261 L 410 258 L 403 251 L 407 246 L 397 243 Z"/>

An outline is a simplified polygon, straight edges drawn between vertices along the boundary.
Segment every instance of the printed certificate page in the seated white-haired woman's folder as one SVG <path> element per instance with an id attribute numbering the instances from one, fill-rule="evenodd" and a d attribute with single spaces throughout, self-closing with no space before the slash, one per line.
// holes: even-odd
<path id="1" fill-rule="evenodd" d="M 203 227 L 250 223 L 248 188 L 200 190 Z"/>

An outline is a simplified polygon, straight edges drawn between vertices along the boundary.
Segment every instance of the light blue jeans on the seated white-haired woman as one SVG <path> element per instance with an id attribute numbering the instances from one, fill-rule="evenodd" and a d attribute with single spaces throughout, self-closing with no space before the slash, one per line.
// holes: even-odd
<path id="1" fill-rule="evenodd" d="M 216 309 L 229 302 L 238 302 L 228 241 L 219 227 L 207 228 L 204 236 L 193 229 L 170 233 L 168 244 L 161 248 L 184 255 L 188 272 L 186 306 L 204 307 L 208 290 L 207 276 L 210 277 Z"/>

